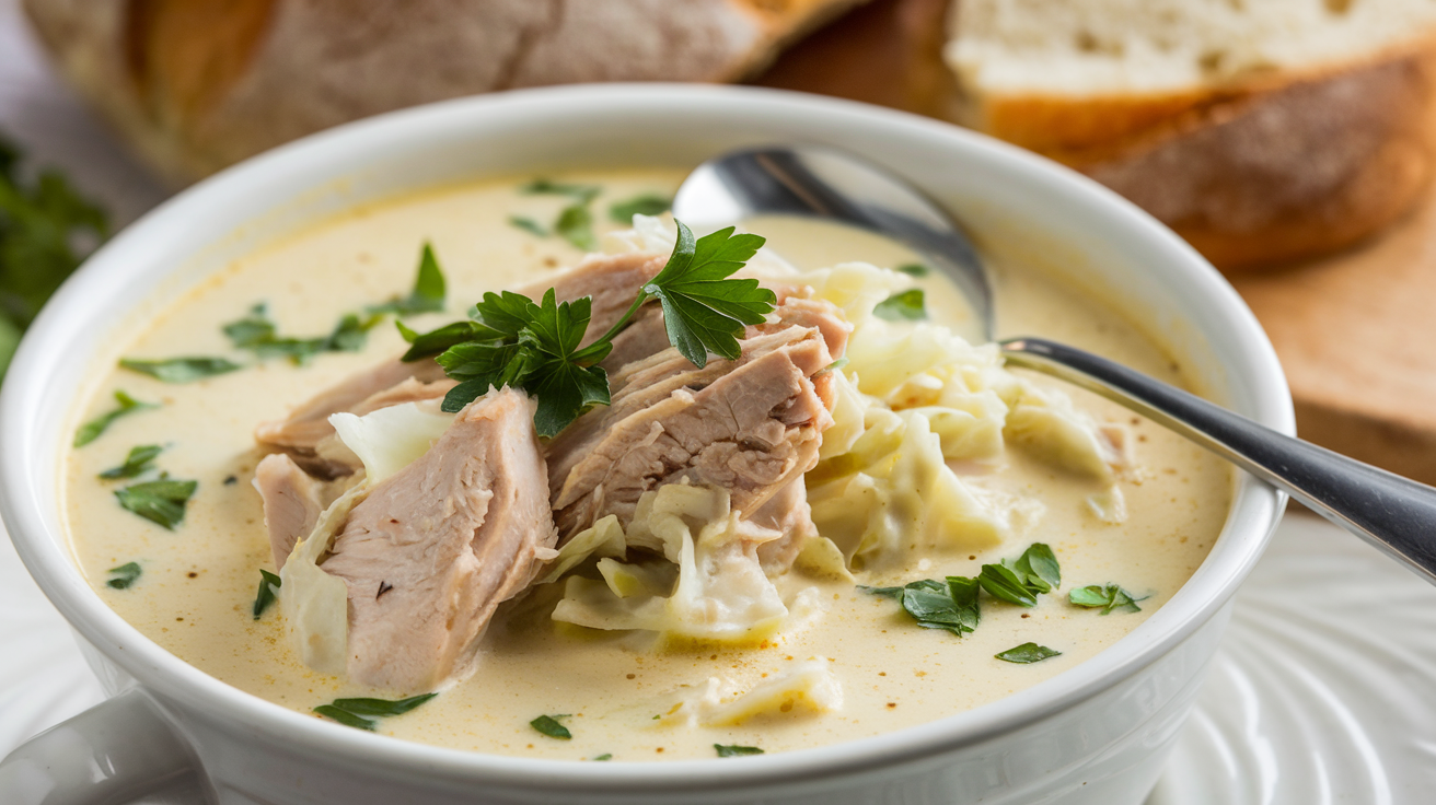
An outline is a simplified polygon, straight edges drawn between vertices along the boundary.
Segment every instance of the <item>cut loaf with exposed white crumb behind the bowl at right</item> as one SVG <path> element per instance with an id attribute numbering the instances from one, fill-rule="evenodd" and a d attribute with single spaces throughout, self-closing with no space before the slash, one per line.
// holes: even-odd
<path id="1" fill-rule="evenodd" d="M 1436 165 L 1429 0 L 958 0 L 955 116 L 1137 202 L 1223 268 L 1343 248 Z"/>

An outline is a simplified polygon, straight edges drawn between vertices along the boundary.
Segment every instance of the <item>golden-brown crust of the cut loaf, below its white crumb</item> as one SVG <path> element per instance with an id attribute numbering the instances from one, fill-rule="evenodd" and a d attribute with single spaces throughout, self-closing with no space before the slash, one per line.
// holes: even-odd
<path id="1" fill-rule="evenodd" d="M 1436 47 L 1189 93 L 968 98 L 965 113 L 1127 197 L 1218 267 L 1264 268 L 1353 245 L 1422 198 Z"/>

